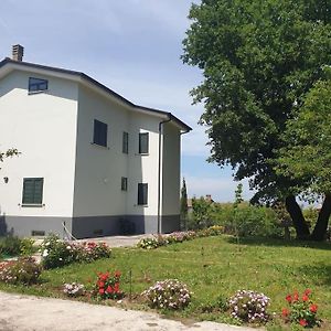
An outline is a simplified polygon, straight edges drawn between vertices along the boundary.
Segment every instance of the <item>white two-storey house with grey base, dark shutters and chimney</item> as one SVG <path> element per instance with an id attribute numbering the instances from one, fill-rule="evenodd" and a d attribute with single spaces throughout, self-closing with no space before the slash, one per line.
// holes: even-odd
<path id="1" fill-rule="evenodd" d="M 180 140 L 191 128 L 84 73 L 0 62 L 0 233 L 75 237 L 179 228 Z"/>

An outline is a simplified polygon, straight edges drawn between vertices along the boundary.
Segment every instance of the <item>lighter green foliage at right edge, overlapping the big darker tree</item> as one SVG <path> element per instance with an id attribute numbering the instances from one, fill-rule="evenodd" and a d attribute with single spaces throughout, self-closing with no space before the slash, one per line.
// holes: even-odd
<path id="1" fill-rule="evenodd" d="M 296 116 L 287 121 L 279 150 L 278 173 L 301 181 L 302 191 L 316 195 L 331 192 L 331 79 L 309 90 Z"/>

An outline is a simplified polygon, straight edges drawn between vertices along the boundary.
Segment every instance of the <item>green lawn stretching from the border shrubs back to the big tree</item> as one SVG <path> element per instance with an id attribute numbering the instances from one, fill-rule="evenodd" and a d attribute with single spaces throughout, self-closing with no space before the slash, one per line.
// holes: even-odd
<path id="1" fill-rule="evenodd" d="M 243 239 L 237 245 L 231 237 L 197 238 L 154 250 L 114 248 L 113 258 L 92 264 L 75 264 L 46 270 L 42 284 L 32 287 L 13 287 L 0 284 L 0 289 L 39 296 L 62 297 L 64 282 L 88 284 L 96 273 L 120 270 L 122 290 L 140 293 L 157 280 L 177 278 L 194 292 L 192 303 L 174 317 L 233 322 L 226 313 L 205 313 L 203 308 L 220 297 L 228 298 L 238 289 L 264 292 L 271 299 L 270 311 L 279 313 L 286 306 L 285 296 L 295 289 L 312 290 L 319 305 L 319 316 L 331 321 L 331 244 Z M 146 309 L 141 303 L 136 308 Z M 330 324 L 328 324 L 330 327 Z M 270 330 L 281 327 L 270 325 Z M 327 329 L 325 329 L 327 330 Z"/>

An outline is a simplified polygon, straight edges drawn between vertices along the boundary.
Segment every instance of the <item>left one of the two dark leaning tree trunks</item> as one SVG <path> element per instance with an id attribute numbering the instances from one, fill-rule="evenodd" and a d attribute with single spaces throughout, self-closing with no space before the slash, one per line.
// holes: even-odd
<path id="1" fill-rule="evenodd" d="M 295 195 L 289 195 L 285 200 L 286 210 L 290 214 L 293 226 L 297 232 L 297 239 L 308 239 L 309 238 L 309 227 L 303 217 L 302 211 L 296 201 Z"/>

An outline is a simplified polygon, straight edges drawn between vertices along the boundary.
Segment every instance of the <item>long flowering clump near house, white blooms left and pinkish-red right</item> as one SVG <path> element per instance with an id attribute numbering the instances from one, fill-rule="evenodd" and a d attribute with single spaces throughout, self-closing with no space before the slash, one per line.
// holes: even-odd
<path id="1" fill-rule="evenodd" d="M 50 235 L 41 245 L 42 265 L 45 269 L 57 268 L 74 261 L 93 261 L 110 257 L 111 249 L 105 243 L 72 243 Z"/>

